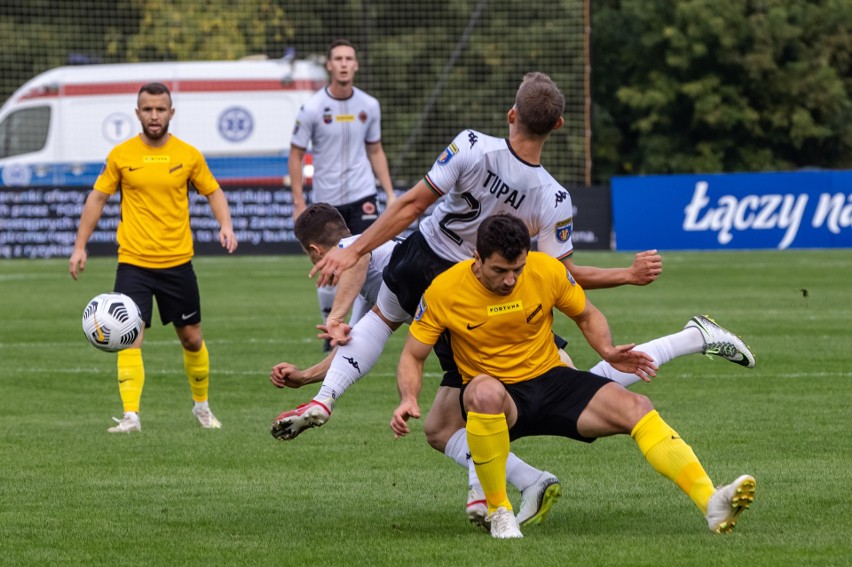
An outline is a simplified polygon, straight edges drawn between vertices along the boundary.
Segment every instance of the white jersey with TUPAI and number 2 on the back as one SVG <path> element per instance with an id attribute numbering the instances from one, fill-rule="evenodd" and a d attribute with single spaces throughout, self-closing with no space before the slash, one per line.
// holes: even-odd
<path id="1" fill-rule="evenodd" d="M 574 250 L 568 191 L 541 165 L 521 160 L 504 138 L 465 130 L 438 156 L 425 181 L 442 198 L 420 232 L 444 259 L 472 258 L 480 222 L 503 212 L 524 221 L 539 251 L 562 259 Z"/>

